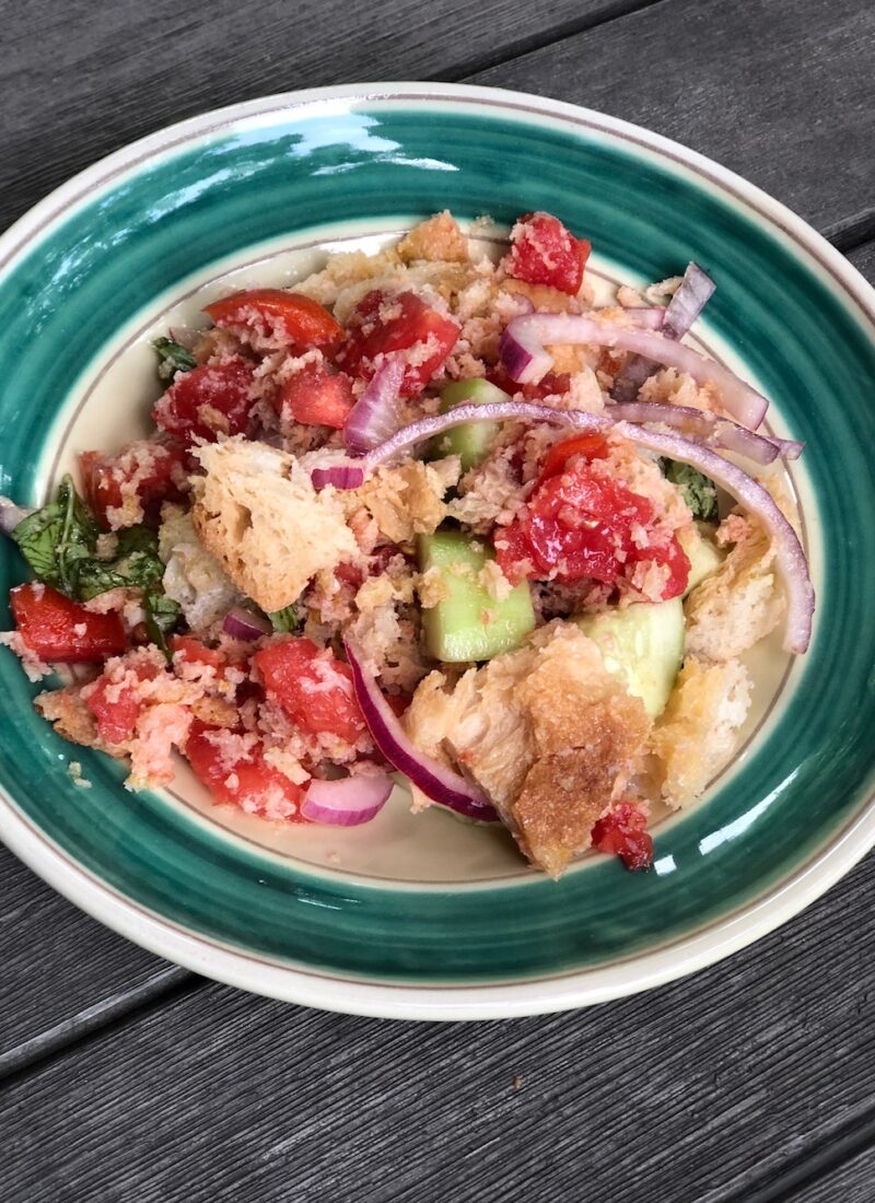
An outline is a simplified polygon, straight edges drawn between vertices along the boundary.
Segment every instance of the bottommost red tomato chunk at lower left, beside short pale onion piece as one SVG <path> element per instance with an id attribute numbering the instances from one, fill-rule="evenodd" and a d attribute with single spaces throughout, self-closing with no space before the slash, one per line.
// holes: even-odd
<path id="1" fill-rule="evenodd" d="M 195 719 L 185 742 L 185 757 L 213 798 L 233 802 L 246 811 L 268 811 L 271 817 L 276 817 L 279 804 L 289 812 L 283 814 L 286 822 L 306 823 L 300 811 L 303 789 L 265 760 L 262 746 L 255 745 L 248 757 L 229 765 L 226 755 L 208 737 L 214 730 L 221 728 Z"/>

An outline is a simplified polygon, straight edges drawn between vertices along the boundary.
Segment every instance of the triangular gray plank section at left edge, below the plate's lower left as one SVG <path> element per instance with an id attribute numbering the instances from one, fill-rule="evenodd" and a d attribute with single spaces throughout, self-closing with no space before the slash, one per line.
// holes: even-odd
<path id="1" fill-rule="evenodd" d="M 26 1042 L 73 1038 L 181 972 L 78 911 L 2 847 L 0 955 L 0 1063 Z"/>

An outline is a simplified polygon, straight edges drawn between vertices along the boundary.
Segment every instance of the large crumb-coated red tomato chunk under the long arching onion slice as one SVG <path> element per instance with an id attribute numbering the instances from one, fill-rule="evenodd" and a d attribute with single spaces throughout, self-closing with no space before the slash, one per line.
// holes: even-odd
<path id="1" fill-rule="evenodd" d="M 579 458 L 544 480 L 525 512 L 499 532 L 496 559 L 513 582 L 528 577 L 568 585 L 589 577 L 619 588 L 627 587 L 638 564 L 667 564 L 663 600 L 682 593 L 690 575 L 684 549 L 655 525 L 650 500 L 595 475 Z"/>

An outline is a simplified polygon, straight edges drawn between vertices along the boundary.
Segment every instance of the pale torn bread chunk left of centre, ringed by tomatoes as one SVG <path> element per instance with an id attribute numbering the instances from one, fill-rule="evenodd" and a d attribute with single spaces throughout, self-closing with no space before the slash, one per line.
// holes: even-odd
<path id="1" fill-rule="evenodd" d="M 295 602 L 359 546 L 335 490 L 317 492 L 295 458 L 238 437 L 195 452 L 206 468 L 191 511 L 197 538 L 262 610 Z"/>

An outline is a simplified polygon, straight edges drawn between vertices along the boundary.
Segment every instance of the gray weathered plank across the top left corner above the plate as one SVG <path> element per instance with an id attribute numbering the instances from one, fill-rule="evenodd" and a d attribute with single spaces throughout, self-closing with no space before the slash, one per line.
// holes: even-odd
<path id="1" fill-rule="evenodd" d="M 295 88 L 454 77 L 649 2 L 6 5 L 0 229 L 101 155 L 195 113 Z"/>

